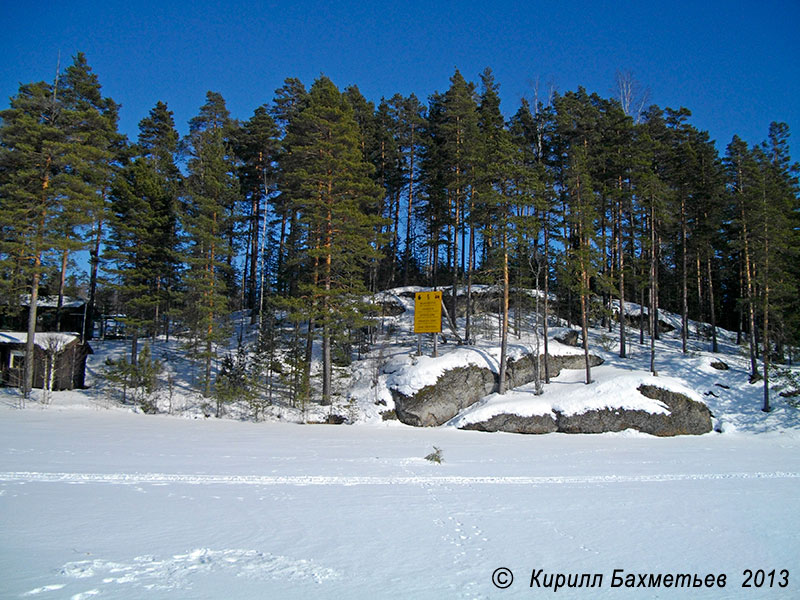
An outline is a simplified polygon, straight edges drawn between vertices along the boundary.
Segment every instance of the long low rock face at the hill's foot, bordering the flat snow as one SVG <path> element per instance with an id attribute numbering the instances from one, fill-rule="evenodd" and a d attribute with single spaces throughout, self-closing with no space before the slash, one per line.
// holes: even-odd
<path id="1" fill-rule="evenodd" d="M 550 415 L 521 417 L 501 414 L 462 429 L 510 433 L 603 433 L 636 429 L 662 437 L 700 435 L 711 431 L 711 412 L 705 404 L 678 392 L 651 385 L 641 385 L 638 390 L 642 395 L 666 404 L 669 414 L 626 409 L 591 410 L 578 415 L 564 415 L 555 411 L 555 419 Z"/>

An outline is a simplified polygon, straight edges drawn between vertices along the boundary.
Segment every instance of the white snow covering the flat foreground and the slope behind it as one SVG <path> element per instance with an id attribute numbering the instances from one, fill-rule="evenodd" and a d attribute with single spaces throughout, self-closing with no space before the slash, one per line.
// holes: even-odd
<path id="1" fill-rule="evenodd" d="M 597 584 L 559 586 L 567 598 L 800 597 L 798 409 L 775 394 L 761 412 L 730 334 L 717 355 L 703 339 L 689 355 L 675 335 L 658 343 L 655 379 L 694 390 L 714 433 L 524 436 L 382 420 L 389 385 L 440 372 L 411 356 L 407 317 L 387 319 L 394 337 L 351 370 L 334 408 L 352 410 L 354 426 L 243 422 L 233 407 L 204 418 L 169 346 L 157 352 L 175 415 L 134 412 L 102 387 L 24 410 L 0 391 L 0 598 L 522 598 L 551 594 L 558 574 Z M 634 340 L 622 360 L 613 334 L 591 341 L 606 361 L 591 386 L 564 371 L 544 395 L 488 397 L 472 418 L 632 402 L 652 379 L 648 349 Z M 90 380 L 124 342 L 95 352 Z M 440 352 L 441 364 L 491 365 L 496 338 Z M 425 460 L 434 448 L 441 464 Z M 634 585 L 724 574 L 726 586 L 613 587 L 618 569 Z M 747 570 L 758 587 L 742 587 Z"/>

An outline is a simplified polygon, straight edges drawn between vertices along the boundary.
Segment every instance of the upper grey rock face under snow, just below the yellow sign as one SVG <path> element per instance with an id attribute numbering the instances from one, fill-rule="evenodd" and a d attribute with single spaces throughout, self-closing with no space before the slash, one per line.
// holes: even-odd
<path id="1" fill-rule="evenodd" d="M 603 362 L 600 357 L 589 355 L 590 365 Z M 544 373 L 539 357 L 541 373 Z M 585 366 L 582 354 L 551 356 L 550 376 L 557 377 L 561 369 L 582 369 Z M 510 360 L 506 369 L 508 387 L 518 387 L 534 380 L 536 359 L 533 355 Z M 435 384 L 426 386 L 413 396 L 391 390 L 397 418 L 406 425 L 436 427 L 446 423 L 465 408 L 497 391 L 498 376 L 490 369 L 478 366 L 458 367 L 443 373 Z M 532 432 L 531 432 L 532 433 Z"/>

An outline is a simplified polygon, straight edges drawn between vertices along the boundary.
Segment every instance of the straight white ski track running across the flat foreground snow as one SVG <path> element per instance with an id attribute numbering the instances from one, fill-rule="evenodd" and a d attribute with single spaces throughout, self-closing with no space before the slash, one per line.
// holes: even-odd
<path id="1" fill-rule="evenodd" d="M 326 475 L 185 475 L 173 473 L 45 473 L 0 472 L 0 481 L 10 483 L 105 483 L 116 485 L 256 485 L 256 486 L 357 486 L 357 485 L 592 485 L 613 483 L 663 483 L 671 481 L 715 481 L 742 479 L 798 479 L 787 471 L 739 473 L 666 473 L 655 475 L 563 475 L 484 477 L 442 476 L 326 476 Z"/>

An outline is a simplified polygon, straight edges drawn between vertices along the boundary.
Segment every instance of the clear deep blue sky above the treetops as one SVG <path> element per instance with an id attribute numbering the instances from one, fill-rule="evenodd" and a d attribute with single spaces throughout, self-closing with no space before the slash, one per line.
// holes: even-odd
<path id="1" fill-rule="evenodd" d="M 286 77 L 425 101 L 455 67 L 478 81 L 489 66 L 510 115 L 537 79 L 608 97 L 628 70 L 653 103 L 689 108 L 721 151 L 734 133 L 762 141 L 775 120 L 800 159 L 800 0 L 0 0 L 0 14 L 0 106 L 20 82 L 51 81 L 59 51 L 62 67 L 83 51 L 131 139 L 158 100 L 185 133 L 207 90 L 247 119 Z"/>

